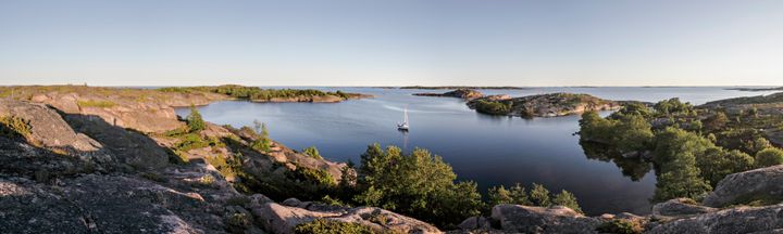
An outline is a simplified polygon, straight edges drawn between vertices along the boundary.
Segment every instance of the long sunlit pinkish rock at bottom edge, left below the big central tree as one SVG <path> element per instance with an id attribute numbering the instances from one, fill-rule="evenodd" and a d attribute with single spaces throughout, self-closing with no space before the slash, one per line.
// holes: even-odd
<path id="1" fill-rule="evenodd" d="M 301 203 L 296 199 L 284 202 L 285 205 L 268 203 L 252 210 L 266 231 L 272 233 L 294 233 L 294 227 L 315 219 L 338 222 L 358 223 L 377 232 L 390 233 L 440 233 L 425 222 L 408 218 L 388 210 L 373 207 L 336 207 Z"/>

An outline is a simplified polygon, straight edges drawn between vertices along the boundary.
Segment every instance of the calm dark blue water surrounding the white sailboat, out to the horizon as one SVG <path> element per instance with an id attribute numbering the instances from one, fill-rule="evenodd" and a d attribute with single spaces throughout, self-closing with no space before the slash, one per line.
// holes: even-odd
<path id="1" fill-rule="evenodd" d="M 377 88 L 315 88 L 374 94 L 374 99 L 341 103 L 217 102 L 199 107 L 204 119 L 236 127 L 254 119 L 266 122 L 270 135 L 301 150 L 314 145 L 331 160 L 359 161 L 369 144 L 398 145 L 406 151 L 430 150 L 449 162 L 459 180 L 473 180 L 485 192 L 505 184 L 540 183 L 550 191 L 576 195 L 588 214 L 648 213 L 655 191 L 652 170 L 632 180 L 611 161 L 589 159 L 579 144 L 579 116 L 522 119 L 477 114 L 453 98 L 413 96 L 415 92 Z M 657 102 L 679 96 L 703 104 L 735 96 L 768 94 L 724 88 L 533 88 L 481 90 L 485 94 L 522 96 L 550 92 L 588 93 L 609 100 Z M 411 130 L 396 123 L 408 108 Z M 187 115 L 187 109 L 177 109 Z"/>

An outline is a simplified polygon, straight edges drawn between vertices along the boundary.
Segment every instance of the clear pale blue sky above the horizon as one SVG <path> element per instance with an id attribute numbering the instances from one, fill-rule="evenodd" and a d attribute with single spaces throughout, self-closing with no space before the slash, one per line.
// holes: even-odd
<path id="1" fill-rule="evenodd" d="M 0 0 L 0 84 L 783 86 L 780 0 Z"/>

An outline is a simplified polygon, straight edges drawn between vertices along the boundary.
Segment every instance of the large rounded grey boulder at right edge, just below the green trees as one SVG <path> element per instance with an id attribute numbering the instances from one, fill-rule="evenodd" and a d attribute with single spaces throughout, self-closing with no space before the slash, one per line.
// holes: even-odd
<path id="1" fill-rule="evenodd" d="M 703 203 L 723 207 L 756 199 L 783 202 L 783 165 L 729 174 Z"/>

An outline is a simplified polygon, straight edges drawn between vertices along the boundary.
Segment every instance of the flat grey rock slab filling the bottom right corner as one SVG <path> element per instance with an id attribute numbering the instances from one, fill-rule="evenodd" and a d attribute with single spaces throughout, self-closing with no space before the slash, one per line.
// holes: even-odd
<path id="1" fill-rule="evenodd" d="M 781 233 L 783 205 L 738 207 L 659 223 L 647 233 Z"/>

